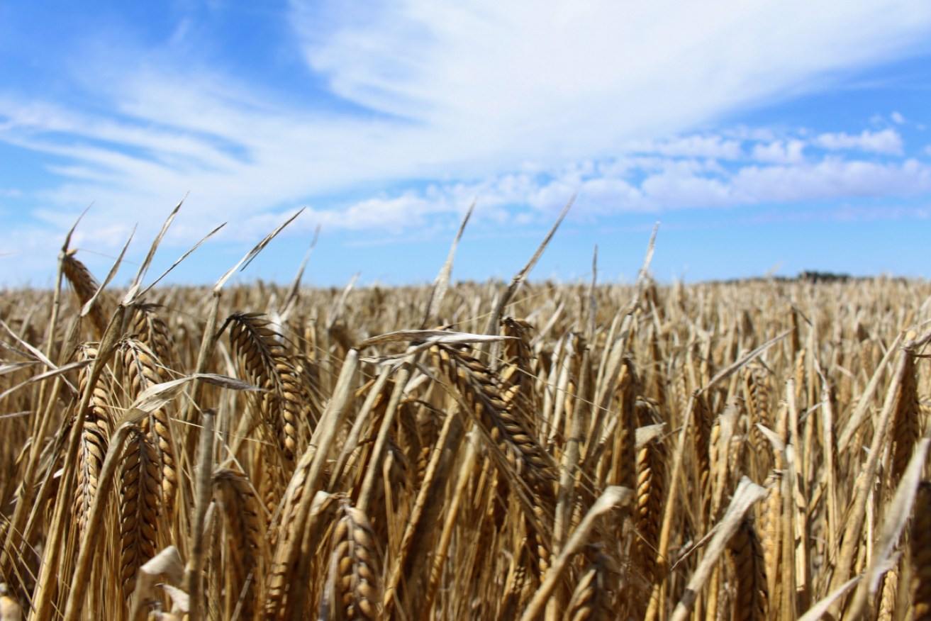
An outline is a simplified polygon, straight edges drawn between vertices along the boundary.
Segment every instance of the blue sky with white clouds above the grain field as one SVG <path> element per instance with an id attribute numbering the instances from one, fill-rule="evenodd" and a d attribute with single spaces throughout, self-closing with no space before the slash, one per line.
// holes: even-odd
<path id="1" fill-rule="evenodd" d="M 175 282 L 929 277 L 924 0 L 0 3 L 0 285 L 65 232 L 122 281 L 223 232 Z"/>

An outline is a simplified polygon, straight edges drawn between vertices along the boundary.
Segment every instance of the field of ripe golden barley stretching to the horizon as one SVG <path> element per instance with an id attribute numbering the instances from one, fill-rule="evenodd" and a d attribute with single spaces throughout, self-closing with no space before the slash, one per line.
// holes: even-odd
<path id="1" fill-rule="evenodd" d="M 931 618 L 927 283 L 61 268 L 0 298 L 2 619 Z"/>

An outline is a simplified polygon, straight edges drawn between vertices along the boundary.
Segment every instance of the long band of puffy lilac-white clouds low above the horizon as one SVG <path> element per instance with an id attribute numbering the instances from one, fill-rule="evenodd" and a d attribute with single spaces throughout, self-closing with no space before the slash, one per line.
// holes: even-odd
<path id="1" fill-rule="evenodd" d="M 771 143 L 756 146 L 766 148 Z M 754 148 L 755 151 L 755 148 Z M 746 163 L 732 169 L 703 166 L 697 160 L 625 157 L 598 163 L 580 178 L 577 167 L 554 171 L 551 176 L 502 177 L 473 184 L 435 184 L 421 193 L 375 201 L 372 217 L 386 225 L 392 219 L 408 223 L 418 218 L 461 214 L 467 196 L 477 196 L 479 206 L 527 204 L 540 213 L 537 222 L 561 209 L 568 196 L 577 194 L 573 218 L 588 219 L 624 212 L 664 209 L 735 208 L 761 204 L 804 201 L 837 201 L 880 196 L 909 197 L 931 192 L 931 165 L 915 159 L 876 163 L 836 156 L 782 164 Z M 515 184 L 515 179 L 519 183 Z M 640 181 L 636 181 L 636 180 Z M 409 201 L 413 201 L 410 203 Z M 353 218 L 366 220 L 368 202 L 321 215 L 333 227 L 352 228 Z M 890 217 L 893 212 L 890 211 Z M 479 218 L 482 217 L 479 210 Z M 533 218 L 526 212 L 501 222 L 518 223 Z"/>

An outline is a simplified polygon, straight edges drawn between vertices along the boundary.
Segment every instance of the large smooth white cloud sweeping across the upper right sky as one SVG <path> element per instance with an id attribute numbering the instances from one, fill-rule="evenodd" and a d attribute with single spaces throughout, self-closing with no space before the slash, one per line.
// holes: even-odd
<path id="1" fill-rule="evenodd" d="M 539 128 L 564 142 L 652 136 L 811 88 L 919 43 L 931 18 L 920 3 L 352 5 L 292 2 L 305 56 L 334 92 L 451 132 L 506 128 L 525 148 Z"/>

